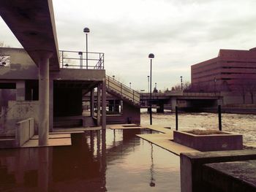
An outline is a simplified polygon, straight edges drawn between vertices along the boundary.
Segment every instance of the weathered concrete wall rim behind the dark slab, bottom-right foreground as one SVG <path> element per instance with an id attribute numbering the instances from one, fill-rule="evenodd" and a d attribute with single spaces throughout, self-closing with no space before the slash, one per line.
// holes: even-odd
<path id="1" fill-rule="evenodd" d="M 203 183 L 203 164 L 256 159 L 256 150 L 181 153 L 181 192 L 208 191 Z"/>

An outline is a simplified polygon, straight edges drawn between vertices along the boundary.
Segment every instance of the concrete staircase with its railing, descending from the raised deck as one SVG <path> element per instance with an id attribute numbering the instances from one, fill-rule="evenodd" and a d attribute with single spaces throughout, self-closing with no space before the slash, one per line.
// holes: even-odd
<path id="1" fill-rule="evenodd" d="M 106 91 L 135 107 L 140 107 L 140 93 L 106 75 Z"/>

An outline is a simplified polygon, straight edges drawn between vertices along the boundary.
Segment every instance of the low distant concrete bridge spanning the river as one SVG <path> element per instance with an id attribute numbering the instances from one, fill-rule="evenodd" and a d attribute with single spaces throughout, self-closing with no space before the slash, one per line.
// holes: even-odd
<path id="1" fill-rule="evenodd" d="M 216 107 L 222 104 L 223 96 L 219 93 L 184 93 L 182 91 L 168 91 L 166 93 L 152 93 L 152 104 L 157 107 L 157 112 L 164 109 L 175 111 L 175 107 L 200 108 Z M 149 93 L 140 93 L 140 106 L 149 106 Z"/>

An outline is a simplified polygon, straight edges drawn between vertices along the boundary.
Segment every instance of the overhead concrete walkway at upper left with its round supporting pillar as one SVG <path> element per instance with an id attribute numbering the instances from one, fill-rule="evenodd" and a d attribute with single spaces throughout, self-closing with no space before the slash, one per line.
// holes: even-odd
<path id="1" fill-rule="evenodd" d="M 39 145 L 48 145 L 49 72 L 59 71 L 51 0 L 1 0 L 0 15 L 39 68 Z"/>

